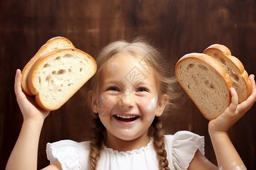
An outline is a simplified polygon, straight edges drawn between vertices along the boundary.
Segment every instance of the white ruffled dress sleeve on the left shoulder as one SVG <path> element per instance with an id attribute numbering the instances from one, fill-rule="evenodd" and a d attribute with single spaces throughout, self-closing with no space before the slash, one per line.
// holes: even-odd
<path id="1" fill-rule="evenodd" d="M 47 143 L 47 159 L 50 163 L 59 160 L 63 170 L 81 169 L 81 155 L 78 147 L 79 143 L 71 140 Z"/>

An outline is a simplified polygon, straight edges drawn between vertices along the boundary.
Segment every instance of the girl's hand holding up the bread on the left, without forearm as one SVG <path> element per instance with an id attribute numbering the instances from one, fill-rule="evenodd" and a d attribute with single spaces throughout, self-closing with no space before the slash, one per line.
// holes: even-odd
<path id="1" fill-rule="evenodd" d="M 35 102 L 35 97 L 26 96 L 21 87 L 22 74 L 18 69 L 15 75 L 14 90 L 16 94 L 16 100 L 19 104 L 20 111 L 23 114 L 24 121 L 44 121 L 48 116 L 49 111 L 44 111 Z"/>

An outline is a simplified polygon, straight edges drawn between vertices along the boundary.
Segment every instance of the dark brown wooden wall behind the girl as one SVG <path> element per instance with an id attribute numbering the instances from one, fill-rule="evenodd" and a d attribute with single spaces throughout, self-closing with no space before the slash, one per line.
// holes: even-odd
<path id="1" fill-rule="evenodd" d="M 201 53 L 211 44 L 224 44 L 249 74 L 256 74 L 255 14 L 255 0 L 0 1 L 0 169 L 5 168 L 23 121 L 14 95 L 15 70 L 23 69 L 48 39 L 67 37 L 76 48 L 96 56 L 109 42 L 145 36 L 171 65 L 186 53 Z M 91 121 L 82 94 L 79 91 L 46 118 L 39 143 L 39 168 L 49 164 L 47 142 L 88 139 Z M 256 104 L 229 131 L 248 169 L 256 169 L 255 112 Z M 205 136 L 205 155 L 216 163 L 208 121 L 191 100 L 170 116 L 172 131 L 191 130 Z"/>

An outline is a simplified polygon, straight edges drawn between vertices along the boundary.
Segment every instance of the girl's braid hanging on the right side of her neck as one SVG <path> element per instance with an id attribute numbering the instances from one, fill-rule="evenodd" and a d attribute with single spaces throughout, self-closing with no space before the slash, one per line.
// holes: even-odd
<path id="1" fill-rule="evenodd" d="M 153 145 L 159 160 L 160 170 L 170 170 L 170 168 L 168 167 L 169 162 L 167 160 L 167 152 L 164 148 L 164 130 L 162 128 L 162 121 L 159 117 L 155 117 L 154 121 L 152 122 L 152 127 L 154 128 Z"/>

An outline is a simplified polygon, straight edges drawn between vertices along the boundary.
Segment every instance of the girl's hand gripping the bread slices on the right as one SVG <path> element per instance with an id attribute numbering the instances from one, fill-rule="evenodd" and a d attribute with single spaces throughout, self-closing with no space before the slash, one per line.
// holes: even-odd
<path id="1" fill-rule="evenodd" d="M 251 95 L 247 98 L 247 100 L 238 104 L 237 92 L 233 87 L 230 88 L 230 94 L 232 96 L 231 103 L 229 107 L 225 109 L 224 113 L 209 122 L 209 133 L 228 131 L 229 128 L 253 106 L 256 101 L 256 85 L 254 75 L 250 75 L 249 80 L 253 85 L 253 92 Z"/>

